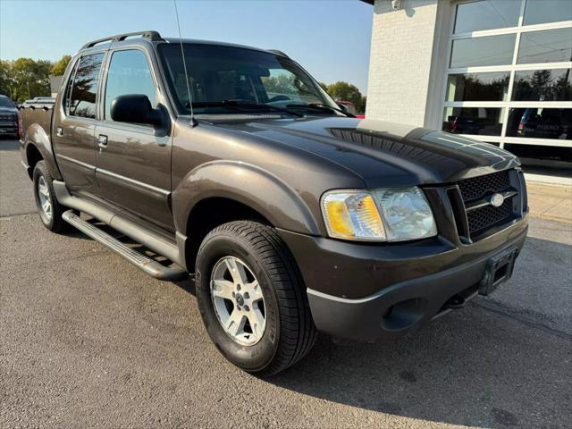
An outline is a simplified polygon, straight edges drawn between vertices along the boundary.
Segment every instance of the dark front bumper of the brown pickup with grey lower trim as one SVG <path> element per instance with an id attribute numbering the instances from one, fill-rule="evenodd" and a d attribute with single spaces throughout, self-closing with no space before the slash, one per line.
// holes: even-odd
<path id="1" fill-rule="evenodd" d="M 358 341 L 399 337 L 448 311 L 452 298 L 473 298 L 487 262 L 523 247 L 521 219 L 470 245 L 440 237 L 368 245 L 281 231 L 307 286 L 315 326 Z"/>

